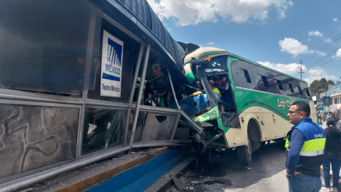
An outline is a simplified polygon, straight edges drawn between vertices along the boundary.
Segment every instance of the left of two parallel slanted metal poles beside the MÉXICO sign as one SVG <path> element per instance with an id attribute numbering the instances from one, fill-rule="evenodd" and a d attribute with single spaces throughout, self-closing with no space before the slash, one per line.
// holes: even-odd
<path id="1" fill-rule="evenodd" d="M 131 94 L 130 94 L 130 98 L 129 98 L 129 106 L 130 107 L 129 107 L 129 110 L 126 114 L 126 127 L 125 127 L 125 131 L 124 131 L 124 143 L 123 143 L 124 146 L 126 146 L 126 140 L 127 140 L 126 137 L 128 136 L 128 131 L 129 131 L 129 117 L 130 117 L 130 112 L 131 112 L 131 105 L 133 105 L 136 81 L 137 81 L 137 77 L 139 76 L 139 70 L 140 70 L 142 55 L 144 54 L 144 46 L 145 46 L 145 43 L 141 43 L 139 57 L 137 58 L 137 63 L 136 63 L 136 70 L 135 70 L 133 85 L 131 87 Z"/>

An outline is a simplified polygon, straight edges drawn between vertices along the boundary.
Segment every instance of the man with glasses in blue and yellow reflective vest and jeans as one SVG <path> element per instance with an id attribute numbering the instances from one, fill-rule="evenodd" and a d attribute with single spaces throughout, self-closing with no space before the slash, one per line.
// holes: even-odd
<path id="1" fill-rule="evenodd" d="M 322 186 L 320 166 L 325 149 L 325 130 L 315 124 L 306 102 L 293 102 L 288 119 L 294 126 L 288 132 L 286 178 L 289 191 L 318 192 Z"/>

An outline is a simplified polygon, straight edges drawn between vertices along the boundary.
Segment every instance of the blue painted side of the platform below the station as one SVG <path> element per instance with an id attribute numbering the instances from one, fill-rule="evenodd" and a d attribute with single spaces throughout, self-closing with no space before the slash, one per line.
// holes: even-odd
<path id="1" fill-rule="evenodd" d="M 114 176 L 86 192 L 97 191 L 145 191 L 153 183 L 158 181 L 161 176 L 167 174 L 175 166 L 193 154 L 192 148 L 177 147 L 164 154 L 156 156 L 154 159 L 141 164 L 124 173 Z"/>

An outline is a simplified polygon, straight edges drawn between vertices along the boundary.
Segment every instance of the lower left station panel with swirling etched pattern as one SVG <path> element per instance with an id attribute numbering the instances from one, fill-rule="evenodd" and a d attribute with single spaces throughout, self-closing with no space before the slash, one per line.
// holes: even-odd
<path id="1" fill-rule="evenodd" d="M 0 178 L 75 158 L 79 109 L 0 104 Z"/>

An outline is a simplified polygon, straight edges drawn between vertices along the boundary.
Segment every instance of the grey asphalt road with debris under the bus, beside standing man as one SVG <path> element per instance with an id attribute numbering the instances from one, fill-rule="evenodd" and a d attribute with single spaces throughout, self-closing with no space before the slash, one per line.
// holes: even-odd
<path id="1" fill-rule="evenodd" d="M 217 182 L 193 184 L 193 191 L 288 191 L 283 143 L 271 142 L 255 151 L 249 169 L 239 165 L 235 151 L 212 156 L 210 164 L 199 163 L 195 172 L 183 176 L 183 181 L 194 183 L 195 177 L 201 181 L 218 177 L 229 179 L 232 185 Z"/>

